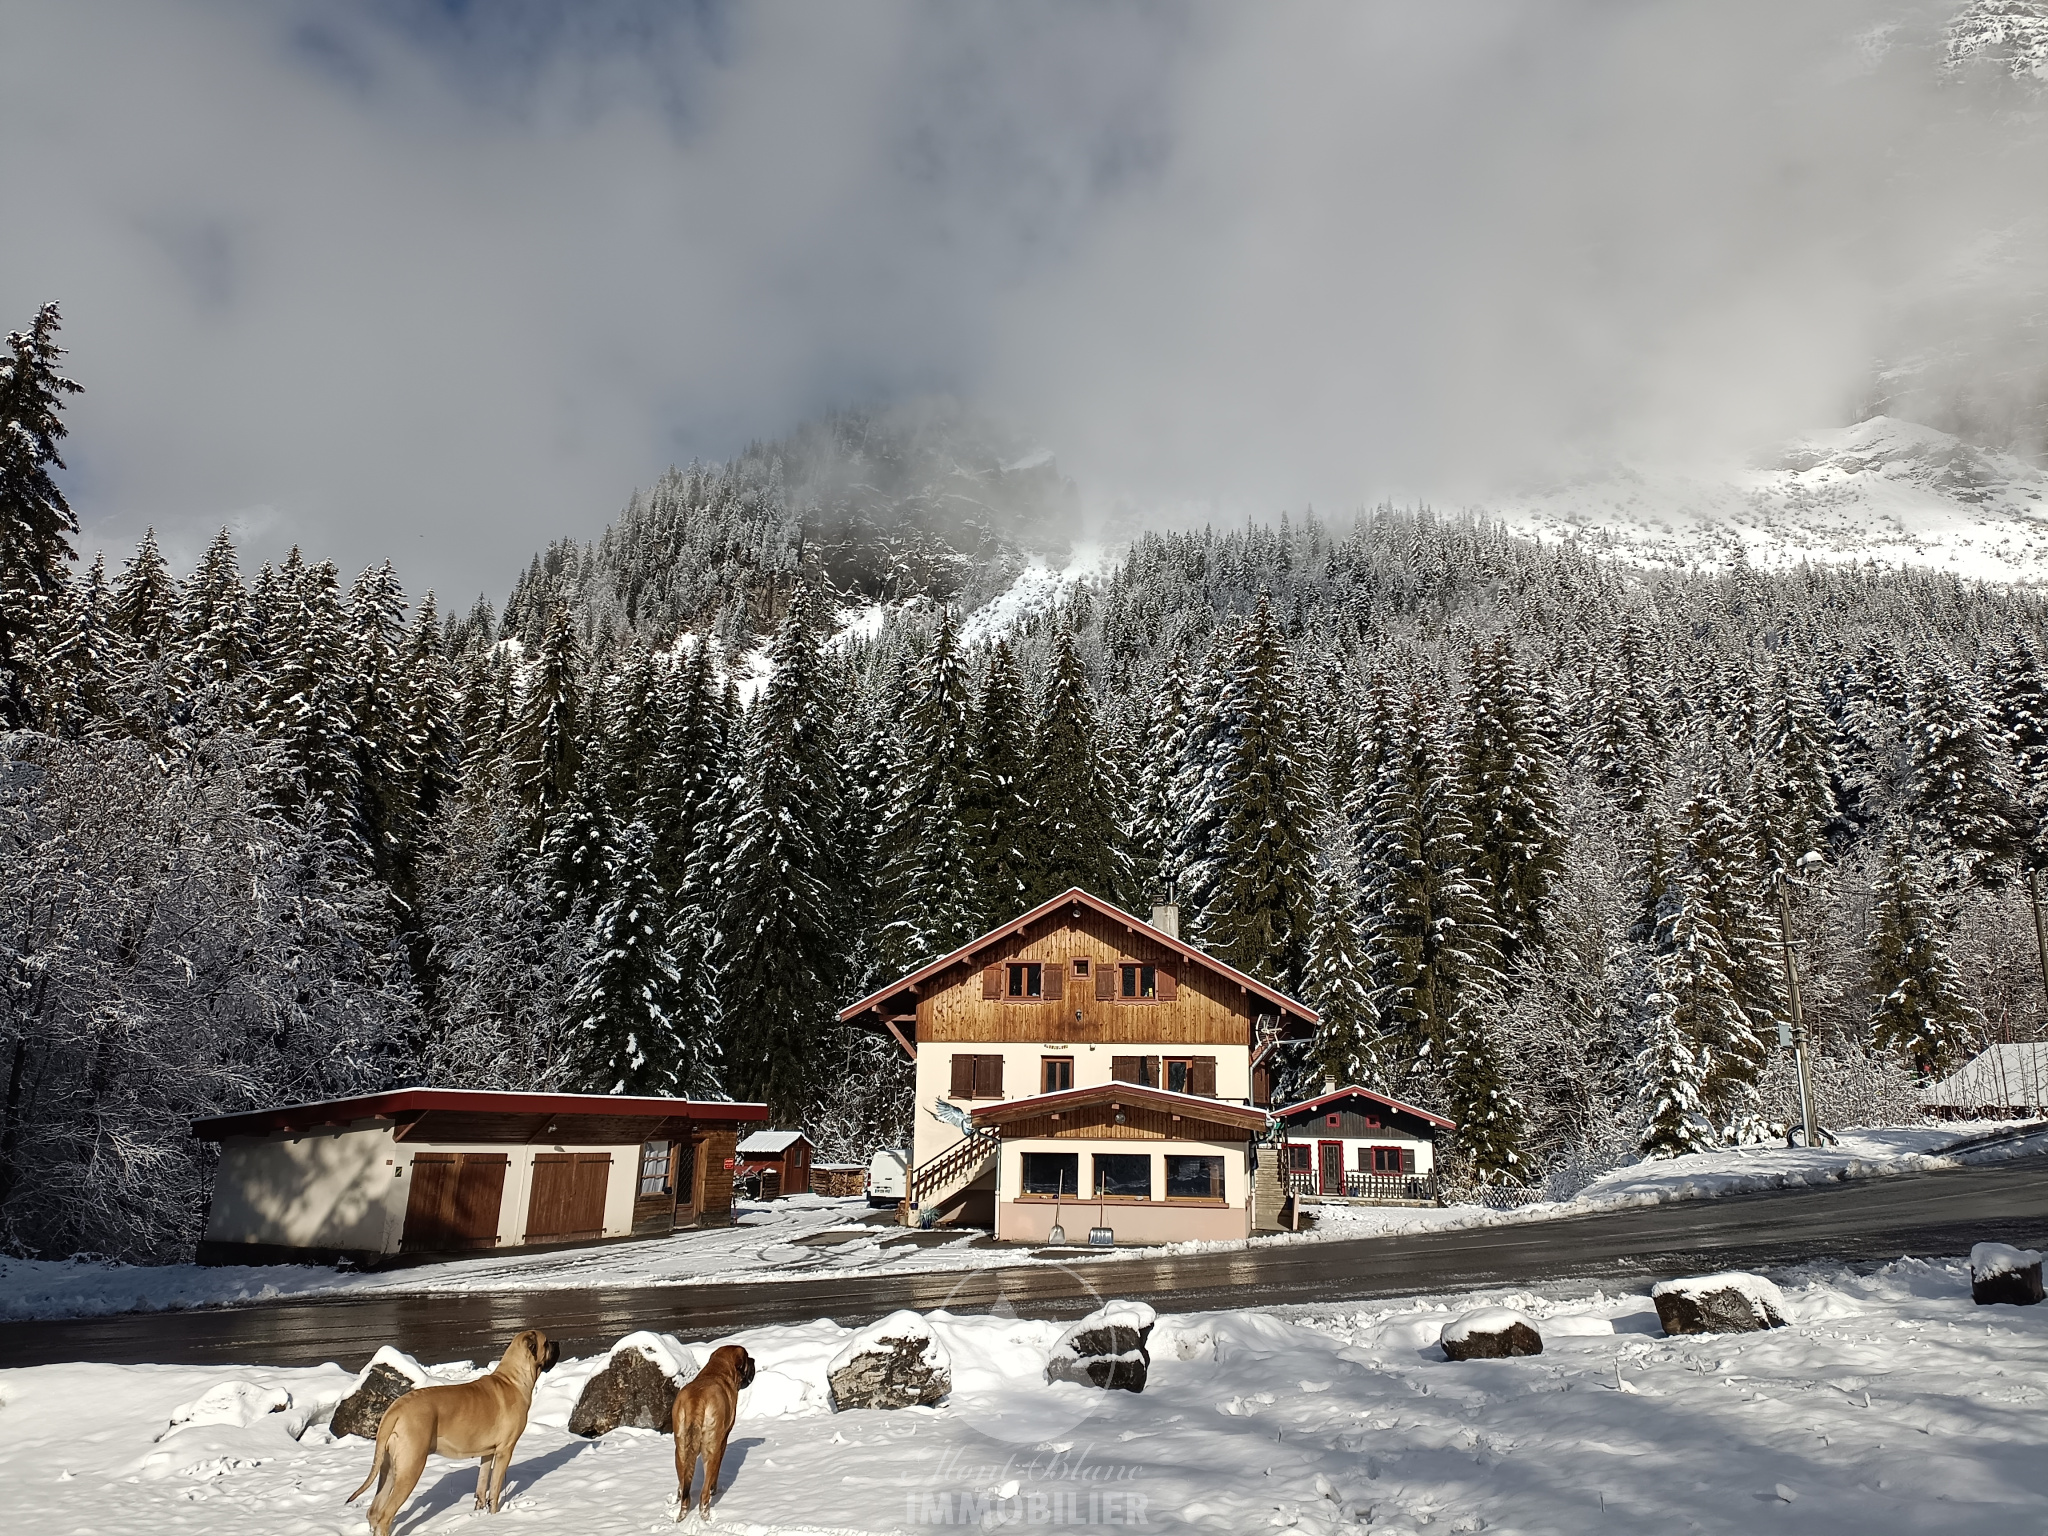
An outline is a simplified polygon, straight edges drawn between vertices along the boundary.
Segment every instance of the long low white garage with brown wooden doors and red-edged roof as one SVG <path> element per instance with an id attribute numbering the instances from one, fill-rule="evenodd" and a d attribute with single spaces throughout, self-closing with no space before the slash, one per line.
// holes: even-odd
<path id="1" fill-rule="evenodd" d="M 731 1223 L 764 1104 L 399 1087 L 193 1124 L 221 1143 L 201 1264 L 381 1264 Z"/>

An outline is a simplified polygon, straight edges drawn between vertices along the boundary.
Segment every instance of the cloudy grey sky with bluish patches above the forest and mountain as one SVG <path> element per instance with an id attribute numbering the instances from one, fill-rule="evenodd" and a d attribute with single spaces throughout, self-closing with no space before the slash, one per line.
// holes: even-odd
<path id="1" fill-rule="evenodd" d="M 88 549 L 457 602 L 924 393 L 1161 518 L 1458 500 L 1847 420 L 1903 315 L 2042 291 L 1946 10 L 8 0 L 0 324 L 63 303 Z"/>

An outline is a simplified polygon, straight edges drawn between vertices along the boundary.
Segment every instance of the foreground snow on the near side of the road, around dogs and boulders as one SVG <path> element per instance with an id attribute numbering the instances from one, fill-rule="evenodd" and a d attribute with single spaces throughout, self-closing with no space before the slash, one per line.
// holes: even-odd
<path id="1" fill-rule="evenodd" d="M 725 1339 L 758 1376 L 713 1526 L 2007 1536 L 2042 1524 L 2048 1307 L 1972 1307 L 1960 1262 L 1778 1278 L 1790 1327 L 1741 1335 L 1663 1337 L 1647 1296 L 1587 1288 L 1163 1317 L 1143 1395 L 1047 1384 L 1057 1323 L 934 1313 L 952 1397 L 897 1413 L 831 1413 L 838 1325 L 754 1329 Z M 1442 1327 L 1475 1307 L 1536 1319 L 1544 1354 L 1444 1360 Z M 565 1430 L 598 1364 L 545 1378 L 492 1530 L 672 1530 L 664 1436 Z M 362 1505 L 342 1499 L 371 1448 L 324 1427 L 348 1384 L 336 1366 L 0 1372 L 8 1528 L 360 1532 Z M 432 1460 L 399 1530 L 479 1530 L 473 1485 L 473 1462 Z"/>

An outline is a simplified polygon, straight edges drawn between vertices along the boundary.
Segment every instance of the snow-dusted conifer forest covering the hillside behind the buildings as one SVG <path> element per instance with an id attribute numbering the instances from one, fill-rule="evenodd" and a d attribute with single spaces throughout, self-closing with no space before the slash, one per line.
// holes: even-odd
<path id="1" fill-rule="evenodd" d="M 1464 1184 L 1784 1137 L 1788 961 L 1823 1122 L 2042 1034 L 2032 590 L 1382 506 L 1006 604 L 1057 469 L 848 414 L 442 610 L 78 549 L 57 336 L 0 356 L 6 1251 L 188 1255 L 193 1118 L 414 1081 L 907 1145 L 836 1012 L 1073 885 L 1315 1006 L 1280 1092 L 1448 1114 Z"/>

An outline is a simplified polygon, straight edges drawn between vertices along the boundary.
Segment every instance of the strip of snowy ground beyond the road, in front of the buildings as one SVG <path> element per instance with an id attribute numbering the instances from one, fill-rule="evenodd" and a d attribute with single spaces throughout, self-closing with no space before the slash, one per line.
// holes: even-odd
<path id="1" fill-rule="evenodd" d="M 1571 1200 L 1487 1210 L 1483 1206 L 1317 1206 L 1317 1225 L 1305 1233 L 1260 1237 L 1257 1243 L 1305 1243 L 1425 1227 L 1485 1227 L 1507 1221 L 1550 1221 L 1591 1210 L 1700 1200 L 1747 1190 L 1833 1184 L 1858 1178 L 1915 1174 L 1964 1163 L 2001 1161 L 2048 1153 L 2048 1128 L 1944 1153 L 1956 1141 L 2011 1130 L 2001 1122 L 1948 1122 L 1880 1126 L 1841 1133 L 1839 1147 L 1815 1151 L 1737 1147 L 1692 1157 L 1632 1163 L 1589 1184 Z M 881 1217 L 883 1225 L 872 1225 Z M 1171 1251 L 1237 1247 L 1235 1243 L 1180 1243 Z M 1159 1249 L 1118 1249 L 1090 1255 L 1090 1264 L 1155 1255 Z M 827 1200 L 815 1194 L 770 1204 L 737 1206 L 737 1225 L 678 1233 L 662 1241 L 610 1243 L 557 1253 L 500 1253 L 412 1270 L 348 1274 L 307 1264 L 129 1266 L 0 1257 L 0 1317 L 96 1317 L 104 1313 L 174 1307 L 219 1307 L 313 1294 L 422 1292 L 422 1290 L 551 1290 L 573 1286 L 729 1284 L 745 1280 L 815 1280 L 831 1274 L 911 1274 L 979 1270 L 999 1264 L 1059 1264 L 1014 1247 L 995 1247 L 981 1233 L 905 1233 L 887 1225 L 866 1200 Z"/>

